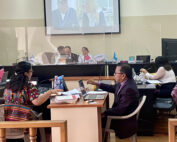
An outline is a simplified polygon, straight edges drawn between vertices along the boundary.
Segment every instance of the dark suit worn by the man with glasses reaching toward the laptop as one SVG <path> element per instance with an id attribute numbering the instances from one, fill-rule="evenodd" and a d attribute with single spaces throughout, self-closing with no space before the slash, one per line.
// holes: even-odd
<path id="1" fill-rule="evenodd" d="M 115 85 L 100 84 L 100 88 L 114 93 L 114 103 L 112 108 L 106 110 L 106 116 L 128 115 L 137 108 L 139 93 L 133 79 L 127 80 L 121 90 L 119 90 L 120 83 Z M 136 116 L 125 120 L 113 120 L 111 128 L 115 130 L 119 138 L 130 137 L 137 131 Z"/>

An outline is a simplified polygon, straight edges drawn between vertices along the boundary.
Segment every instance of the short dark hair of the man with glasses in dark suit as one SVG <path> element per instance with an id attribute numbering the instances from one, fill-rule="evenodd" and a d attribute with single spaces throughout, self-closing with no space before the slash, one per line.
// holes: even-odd
<path id="1" fill-rule="evenodd" d="M 132 79 L 132 68 L 129 64 L 119 63 L 117 66 L 121 67 L 120 72 L 124 73 L 128 79 Z"/>

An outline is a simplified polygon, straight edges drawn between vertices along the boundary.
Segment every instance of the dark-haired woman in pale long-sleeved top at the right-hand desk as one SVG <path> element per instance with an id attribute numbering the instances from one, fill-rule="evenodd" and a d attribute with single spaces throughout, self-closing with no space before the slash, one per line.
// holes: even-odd
<path id="1" fill-rule="evenodd" d="M 162 83 L 159 92 L 156 92 L 157 97 L 171 97 L 171 91 L 176 84 L 175 73 L 166 57 L 158 56 L 155 59 L 155 65 L 158 67 L 155 75 L 143 68 L 140 71 L 145 74 L 145 78 L 159 80 Z"/>

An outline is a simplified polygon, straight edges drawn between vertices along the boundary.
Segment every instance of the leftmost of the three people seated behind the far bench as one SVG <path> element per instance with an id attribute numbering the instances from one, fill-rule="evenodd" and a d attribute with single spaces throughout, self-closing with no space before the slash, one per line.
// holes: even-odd
<path id="1" fill-rule="evenodd" d="M 59 46 L 57 48 L 57 53 L 54 55 L 55 59 L 55 64 L 63 63 L 66 62 L 66 57 L 65 57 L 65 47 L 64 46 Z"/>

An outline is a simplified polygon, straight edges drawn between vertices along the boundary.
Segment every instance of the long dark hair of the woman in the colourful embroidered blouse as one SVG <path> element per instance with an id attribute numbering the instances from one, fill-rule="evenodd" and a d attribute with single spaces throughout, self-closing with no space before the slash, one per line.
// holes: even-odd
<path id="1" fill-rule="evenodd" d="M 29 72 L 31 64 L 29 62 L 19 62 L 15 66 L 15 73 L 11 76 L 10 82 L 6 85 L 6 88 L 12 89 L 12 92 L 21 91 L 24 86 L 28 85 L 28 78 L 24 75 L 25 72 Z"/>

